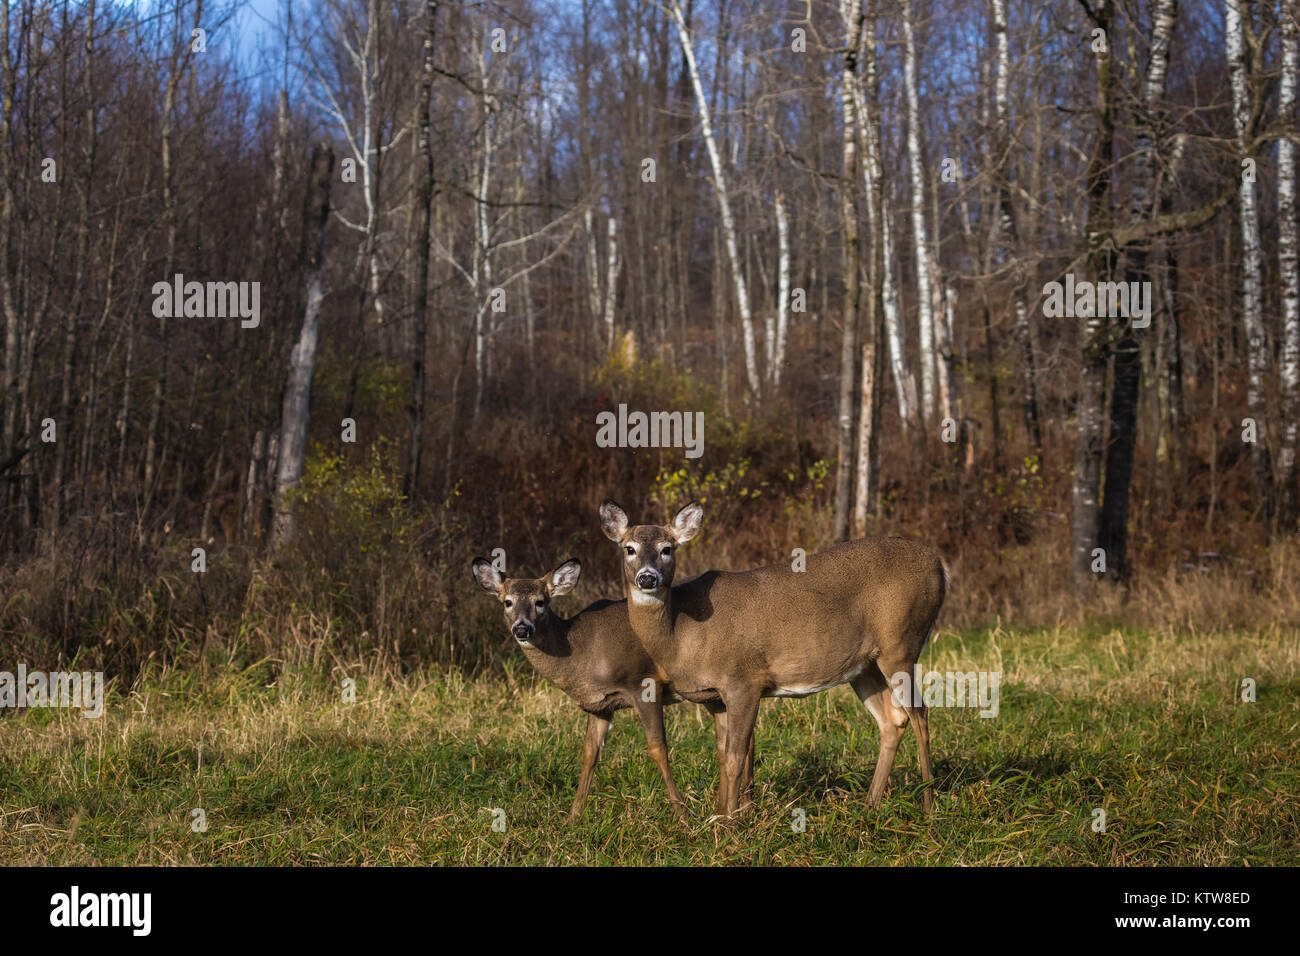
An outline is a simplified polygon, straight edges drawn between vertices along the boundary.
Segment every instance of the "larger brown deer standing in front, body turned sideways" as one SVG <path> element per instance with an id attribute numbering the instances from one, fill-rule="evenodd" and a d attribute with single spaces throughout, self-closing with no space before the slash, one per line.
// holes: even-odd
<path id="1" fill-rule="evenodd" d="M 807 557 L 805 571 L 771 564 L 708 571 L 672 585 L 675 553 L 699 531 L 703 509 L 686 505 L 672 524 L 630 525 L 612 501 L 601 527 L 623 551 L 628 619 L 646 652 L 686 700 L 720 701 L 718 813 L 733 814 L 763 697 L 806 697 L 850 683 L 880 726 L 880 758 L 867 799 L 880 803 L 909 719 L 920 775 L 930 765 L 926 708 L 897 704 L 889 678 L 909 676 L 939 617 L 948 567 L 937 551 L 900 537 L 872 537 Z M 928 813 L 932 796 L 923 796 Z"/>

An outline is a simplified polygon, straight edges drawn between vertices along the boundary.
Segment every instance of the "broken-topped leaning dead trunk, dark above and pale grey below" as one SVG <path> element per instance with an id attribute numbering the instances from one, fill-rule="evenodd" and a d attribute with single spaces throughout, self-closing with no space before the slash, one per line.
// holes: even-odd
<path id="1" fill-rule="evenodd" d="M 334 173 L 334 151 L 329 143 L 312 150 L 311 186 L 303 216 L 302 267 L 307 282 L 307 304 L 298 343 L 289 358 L 289 384 L 280 424 L 280 468 L 276 481 L 276 522 L 272 550 L 282 548 L 294 536 L 294 512 L 289 493 L 303 476 L 303 453 L 307 449 L 307 423 L 311 415 L 312 375 L 316 368 L 316 338 L 320 328 L 321 299 L 325 297 L 325 224 L 329 221 L 330 177 Z"/>

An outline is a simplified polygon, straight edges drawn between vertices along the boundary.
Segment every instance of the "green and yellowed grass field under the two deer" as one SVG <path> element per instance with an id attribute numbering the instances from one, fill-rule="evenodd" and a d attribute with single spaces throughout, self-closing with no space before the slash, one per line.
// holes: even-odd
<path id="1" fill-rule="evenodd" d="M 355 704 L 308 672 L 209 667 L 110 696 L 101 719 L 0 718 L 0 864 L 1300 862 L 1296 633 L 941 631 L 922 663 L 1001 671 L 996 718 L 931 711 L 930 819 L 911 734 L 867 808 L 878 732 L 846 687 L 764 702 L 757 804 L 733 826 L 707 822 L 707 715 L 668 717 L 684 826 L 620 713 L 567 827 L 584 715 L 523 661 L 476 682 L 359 674 Z"/>

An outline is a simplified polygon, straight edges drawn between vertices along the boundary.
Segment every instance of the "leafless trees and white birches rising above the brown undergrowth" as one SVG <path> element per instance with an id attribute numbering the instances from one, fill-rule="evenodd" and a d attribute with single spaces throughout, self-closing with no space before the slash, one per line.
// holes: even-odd
<path id="1" fill-rule="evenodd" d="M 1135 505 L 1296 529 L 1294 3 L 252 16 L 0 1 L 12 559 L 105 512 L 283 548 L 374 389 L 446 501 L 486 419 L 572 415 L 611 356 L 815 421 L 837 538 L 936 470 L 1067 476 L 1079 588 L 1128 575 Z M 259 324 L 157 315 L 177 276 Z"/>

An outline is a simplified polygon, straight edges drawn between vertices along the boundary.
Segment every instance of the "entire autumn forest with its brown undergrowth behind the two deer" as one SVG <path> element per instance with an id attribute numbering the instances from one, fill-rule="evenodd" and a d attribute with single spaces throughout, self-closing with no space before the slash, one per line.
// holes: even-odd
<path id="1" fill-rule="evenodd" d="M 499 670 L 469 561 L 615 594 L 604 497 L 705 502 L 696 572 L 927 541 L 952 627 L 1294 623 L 1296 44 L 1247 0 L 6 0 L 0 633 Z"/>

